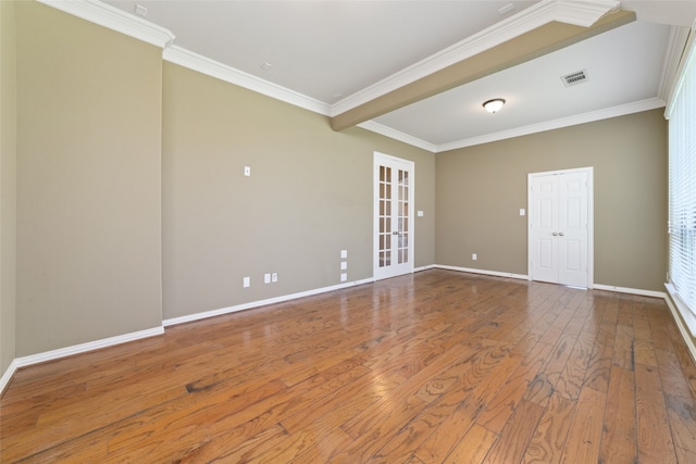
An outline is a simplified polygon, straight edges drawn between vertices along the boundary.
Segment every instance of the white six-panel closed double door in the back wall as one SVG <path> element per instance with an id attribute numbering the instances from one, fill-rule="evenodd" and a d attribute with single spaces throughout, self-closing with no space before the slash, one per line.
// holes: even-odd
<path id="1" fill-rule="evenodd" d="M 592 167 L 529 175 L 530 279 L 592 286 Z"/>

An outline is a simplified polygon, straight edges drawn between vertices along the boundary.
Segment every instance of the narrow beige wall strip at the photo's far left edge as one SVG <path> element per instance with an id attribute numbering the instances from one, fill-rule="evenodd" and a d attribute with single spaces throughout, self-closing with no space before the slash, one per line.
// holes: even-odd
<path id="1" fill-rule="evenodd" d="M 15 33 L 14 2 L 0 1 L 0 375 L 15 356 Z"/>

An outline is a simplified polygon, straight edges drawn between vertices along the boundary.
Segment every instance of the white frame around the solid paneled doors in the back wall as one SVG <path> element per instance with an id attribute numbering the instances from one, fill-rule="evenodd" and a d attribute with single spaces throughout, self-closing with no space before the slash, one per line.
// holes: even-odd
<path id="1" fill-rule="evenodd" d="M 593 289 L 595 285 L 595 187 L 594 187 L 594 166 L 576 167 L 572 170 L 546 171 L 540 173 L 527 174 L 526 193 L 527 193 L 527 279 L 533 280 L 532 273 L 532 217 L 535 213 L 534 201 L 532 198 L 532 179 L 534 177 L 548 175 L 562 175 L 584 172 L 587 174 L 587 289 Z"/>

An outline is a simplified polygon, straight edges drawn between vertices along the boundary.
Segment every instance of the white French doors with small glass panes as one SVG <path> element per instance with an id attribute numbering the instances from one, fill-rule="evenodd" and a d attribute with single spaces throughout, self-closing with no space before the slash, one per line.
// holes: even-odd
<path id="1" fill-rule="evenodd" d="M 374 278 L 413 272 L 413 162 L 374 153 Z"/>

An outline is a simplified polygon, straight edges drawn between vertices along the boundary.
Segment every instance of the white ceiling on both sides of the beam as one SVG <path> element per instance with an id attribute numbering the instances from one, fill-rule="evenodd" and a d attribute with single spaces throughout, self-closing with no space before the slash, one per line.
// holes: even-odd
<path id="1" fill-rule="evenodd" d="M 556 0 L 542 3 L 549 1 Z M 130 14 L 145 7 L 145 20 L 171 30 L 177 48 L 315 100 L 330 114 L 409 66 L 539 7 L 495 0 L 105 3 Z M 507 5 L 514 8 L 500 14 Z M 361 126 L 444 151 L 659 108 L 672 26 L 694 26 L 696 1 L 623 1 L 621 8 L 635 11 L 637 21 Z M 685 36 L 679 37 L 683 46 Z M 560 77 L 581 70 L 587 81 L 566 87 Z M 507 104 L 486 113 L 481 104 L 490 98 Z"/>

